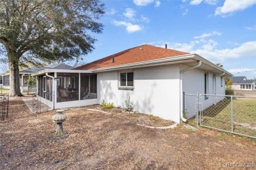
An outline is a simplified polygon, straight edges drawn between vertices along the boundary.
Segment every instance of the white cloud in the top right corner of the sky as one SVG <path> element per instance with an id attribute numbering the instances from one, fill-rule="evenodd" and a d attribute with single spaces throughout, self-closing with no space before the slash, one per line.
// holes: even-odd
<path id="1" fill-rule="evenodd" d="M 225 0 L 223 7 L 217 7 L 215 15 L 227 16 L 233 12 L 247 9 L 256 4 L 256 0 Z"/>

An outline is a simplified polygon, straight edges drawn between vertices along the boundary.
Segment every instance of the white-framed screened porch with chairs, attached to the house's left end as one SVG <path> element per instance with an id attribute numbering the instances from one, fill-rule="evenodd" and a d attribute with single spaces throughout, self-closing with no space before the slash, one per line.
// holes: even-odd
<path id="1" fill-rule="evenodd" d="M 37 95 L 53 109 L 97 103 L 97 75 L 91 71 L 44 70 L 33 76 L 37 76 Z"/>

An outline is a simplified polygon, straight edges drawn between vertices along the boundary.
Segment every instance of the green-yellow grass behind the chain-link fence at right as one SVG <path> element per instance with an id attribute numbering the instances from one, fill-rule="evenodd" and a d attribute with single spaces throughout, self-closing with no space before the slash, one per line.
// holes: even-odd
<path id="1" fill-rule="evenodd" d="M 194 125 L 195 120 L 189 121 Z M 212 105 L 202 112 L 202 125 L 231 131 L 230 99 Z M 239 98 L 233 100 L 233 129 L 236 133 L 256 137 L 256 99 Z"/>

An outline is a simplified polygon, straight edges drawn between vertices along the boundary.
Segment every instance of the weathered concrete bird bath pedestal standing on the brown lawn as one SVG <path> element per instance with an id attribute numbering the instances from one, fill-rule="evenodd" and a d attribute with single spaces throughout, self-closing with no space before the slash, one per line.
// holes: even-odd
<path id="1" fill-rule="evenodd" d="M 56 110 L 56 114 L 53 115 L 52 120 L 57 124 L 56 132 L 53 134 L 51 140 L 64 139 L 68 136 L 68 133 L 63 131 L 62 122 L 66 120 L 66 114 L 63 114 L 64 110 Z"/>

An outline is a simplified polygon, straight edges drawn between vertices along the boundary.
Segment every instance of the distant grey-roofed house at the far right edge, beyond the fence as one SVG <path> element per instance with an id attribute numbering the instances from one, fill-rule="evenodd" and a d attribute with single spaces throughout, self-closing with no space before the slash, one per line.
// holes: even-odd
<path id="1" fill-rule="evenodd" d="M 256 90 L 254 80 L 247 80 L 245 76 L 231 76 L 231 88 L 233 90 Z"/>

